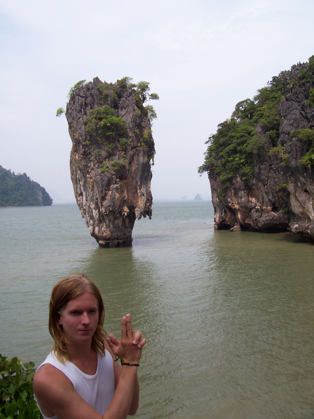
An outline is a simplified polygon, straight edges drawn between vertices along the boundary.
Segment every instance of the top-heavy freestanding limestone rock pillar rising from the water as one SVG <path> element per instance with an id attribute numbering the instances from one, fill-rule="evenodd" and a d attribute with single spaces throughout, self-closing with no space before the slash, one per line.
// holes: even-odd
<path id="1" fill-rule="evenodd" d="M 151 218 L 154 140 L 145 92 L 128 80 L 77 83 L 66 118 L 77 205 L 99 246 L 130 246 L 136 218 Z"/>

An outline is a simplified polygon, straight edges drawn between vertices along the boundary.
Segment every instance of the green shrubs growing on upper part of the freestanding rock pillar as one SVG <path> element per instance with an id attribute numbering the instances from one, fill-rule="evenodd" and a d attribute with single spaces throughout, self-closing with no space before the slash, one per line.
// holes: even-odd
<path id="1" fill-rule="evenodd" d="M 115 84 L 98 82 L 98 106 L 87 110 L 84 116 L 85 138 L 82 141 L 82 145 L 85 146 L 84 153 L 97 158 L 100 173 L 108 171 L 116 173 L 118 168 L 126 166 L 123 159 L 128 150 L 131 148 L 147 150 L 152 138 L 151 129 L 143 127 L 142 121 L 148 117 L 151 122 L 157 118 L 157 114 L 152 105 L 144 106 L 144 103 L 158 100 L 159 96 L 157 93 L 149 93 L 148 82 L 140 81 L 135 84 L 131 83 L 131 80 L 130 77 L 124 77 Z M 85 80 L 81 80 L 70 89 L 68 97 L 71 101 L 75 100 L 75 93 L 83 85 Z M 121 98 L 132 96 L 136 106 L 134 125 L 132 129 L 130 127 L 128 129 L 126 120 L 118 116 L 121 109 L 119 101 Z M 57 116 L 63 112 L 64 109 L 59 108 Z"/>

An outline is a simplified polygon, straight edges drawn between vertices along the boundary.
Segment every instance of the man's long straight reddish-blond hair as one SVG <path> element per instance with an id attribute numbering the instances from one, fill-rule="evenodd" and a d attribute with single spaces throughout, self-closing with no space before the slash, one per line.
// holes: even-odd
<path id="1" fill-rule="evenodd" d="M 67 305 L 70 300 L 84 294 L 84 292 L 92 293 L 97 300 L 98 307 L 98 325 L 92 337 L 92 348 L 100 354 L 105 354 L 105 338 L 107 333 L 103 328 L 105 320 L 105 308 L 100 291 L 96 285 L 83 273 L 69 275 L 60 279 L 54 285 L 49 303 L 49 332 L 54 339 L 52 352 L 61 362 L 69 361 L 67 352 L 67 339 L 63 333 L 62 326 L 59 324 L 59 312 Z"/>

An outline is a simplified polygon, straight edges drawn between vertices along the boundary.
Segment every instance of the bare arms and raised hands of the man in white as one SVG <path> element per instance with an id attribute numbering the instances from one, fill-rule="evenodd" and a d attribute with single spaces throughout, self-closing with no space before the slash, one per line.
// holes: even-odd
<path id="1" fill-rule="evenodd" d="M 113 354 L 120 357 L 123 362 L 138 364 L 142 354 L 142 347 L 138 346 L 144 346 L 146 342 L 146 339 L 142 339 L 142 335 L 139 339 L 141 339 L 139 344 L 133 343 L 131 318 L 128 315 L 122 319 L 121 341 L 116 341 L 115 344 L 108 340 Z M 129 412 L 133 411 L 132 405 L 135 407 L 136 404 L 137 409 L 136 372 L 136 366 L 123 365 L 121 367 L 115 394 L 103 416 L 76 393 L 71 381 L 63 372 L 50 364 L 43 365 L 36 372 L 33 388 L 45 416 L 57 415 L 61 419 L 77 419 L 78 416 L 80 419 L 125 419 Z"/>

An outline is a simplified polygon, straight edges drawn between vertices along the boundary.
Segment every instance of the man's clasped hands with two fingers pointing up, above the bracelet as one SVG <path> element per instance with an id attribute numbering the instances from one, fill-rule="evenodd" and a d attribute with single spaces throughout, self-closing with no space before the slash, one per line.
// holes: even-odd
<path id="1" fill-rule="evenodd" d="M 123 316 L 121 322 L 121 340 L 112 334 L 106 338 L 110 349 L 122 362 L 138 364 L 142 355 L 142 347 L 146 343 L 140 331 L 132 329 L 131 316 Z"/>

